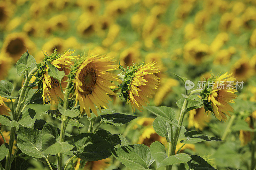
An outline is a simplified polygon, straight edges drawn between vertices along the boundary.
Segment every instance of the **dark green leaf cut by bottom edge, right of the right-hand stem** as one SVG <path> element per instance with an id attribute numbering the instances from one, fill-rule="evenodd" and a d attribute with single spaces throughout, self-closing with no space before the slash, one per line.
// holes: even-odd
<path id="1" fill-rule="evenodd" d="M 213 166 L 208 164 L 203 158 L 197 155 L 191 155 L 191 160 L 188 161 L 190 169 L 194 170 L 216 170 Z"/>

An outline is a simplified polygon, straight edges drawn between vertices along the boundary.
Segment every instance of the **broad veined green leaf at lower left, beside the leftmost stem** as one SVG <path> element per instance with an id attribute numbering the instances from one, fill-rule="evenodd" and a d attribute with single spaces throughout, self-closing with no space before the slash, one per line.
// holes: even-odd
<path id="1" fill-rule="evenodd" d="M 40 130 L 26 128 L 20 125 L 17 131 L 17 145 L 22 152 L 29 156 L 35 158 L 42 158 L 44 156 L 41 152 L 42 133 Z"/>

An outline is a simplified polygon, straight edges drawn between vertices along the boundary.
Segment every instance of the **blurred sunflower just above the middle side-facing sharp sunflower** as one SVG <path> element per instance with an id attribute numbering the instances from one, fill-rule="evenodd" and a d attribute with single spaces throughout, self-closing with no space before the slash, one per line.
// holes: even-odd
<path id="1" fill-rule="evenodd" d="M 140 51 L 137 47 L 131 47 L 125 49 L 123 52 L 120 53 L 119 62 L 124 67 L 133 65 L 135 60 L 139 60 Z"/>

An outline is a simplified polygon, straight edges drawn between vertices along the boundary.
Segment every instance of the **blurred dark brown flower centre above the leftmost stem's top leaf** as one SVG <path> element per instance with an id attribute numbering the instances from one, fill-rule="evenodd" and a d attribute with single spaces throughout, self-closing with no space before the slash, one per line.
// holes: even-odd
<path id="1" fill-rule="evenodd" d="M 26 47 L 24 46 L 23 41 L 20 38 L 12 40 L 8 46 L 6 51 L 11 55 L 20 54 L 21 52 L 25 51 Z"/>

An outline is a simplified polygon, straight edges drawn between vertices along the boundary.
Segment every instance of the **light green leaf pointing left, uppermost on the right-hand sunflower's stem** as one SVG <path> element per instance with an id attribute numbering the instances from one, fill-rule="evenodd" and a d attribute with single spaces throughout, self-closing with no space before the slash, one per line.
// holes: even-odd
<path id="1" fill-rule="evenodd" d="M 180 127 L 180 125 L 176 122 L 174 122 L 174 118 L 175 118 L 175 112 L 171 107 L 166 107 L 166 106 L 160 106 L 160 107 L 156 107 L 156 106 L 148 106 L 146 107 L 151 113 L 153 113 L 156 116 L 162 117 L 165 121 L 167 121 L 168 123 L 176 126 L 176 127 Z"/>

